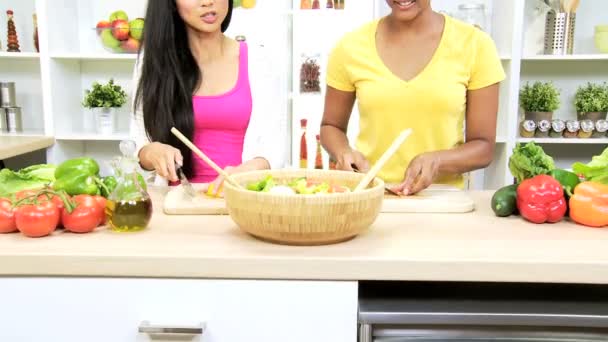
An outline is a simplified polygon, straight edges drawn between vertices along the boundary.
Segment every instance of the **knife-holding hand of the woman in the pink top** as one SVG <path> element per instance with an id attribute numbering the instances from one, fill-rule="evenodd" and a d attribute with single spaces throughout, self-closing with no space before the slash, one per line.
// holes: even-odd
<path id="1" fill-rule="evenodd" d="M 175 147 L 153 142 L 142 147 L 139 152 L 139 162 L 144 169 L 153 169 L 159 176 L 176 182 L 178 178 L 175 165 L 183 165 L 184 158 Z"/>

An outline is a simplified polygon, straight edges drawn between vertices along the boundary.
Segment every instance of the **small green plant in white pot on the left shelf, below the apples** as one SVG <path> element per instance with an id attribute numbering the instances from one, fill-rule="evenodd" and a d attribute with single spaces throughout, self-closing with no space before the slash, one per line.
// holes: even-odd
<path id="1" fill-rule="evenodd" d="M 114 79 L 106 84 L 94 82 L 92 89 L 85 90 L 82 105 L 92 112 L 99 134 L 114 133 L 116 110 L 127 102 L 127 93 Z"/>

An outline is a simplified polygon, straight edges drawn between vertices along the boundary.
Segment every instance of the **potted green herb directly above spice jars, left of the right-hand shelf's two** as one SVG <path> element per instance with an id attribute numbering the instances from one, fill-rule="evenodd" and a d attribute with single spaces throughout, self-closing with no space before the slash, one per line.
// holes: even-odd
<path id="1" fill-rule="evenodd" d="M 519 103 L 526 120 L 551 121 L 553 112 L 560 106 L 559 90 L 552 82 L 526 83 L 519 91 Z"/>

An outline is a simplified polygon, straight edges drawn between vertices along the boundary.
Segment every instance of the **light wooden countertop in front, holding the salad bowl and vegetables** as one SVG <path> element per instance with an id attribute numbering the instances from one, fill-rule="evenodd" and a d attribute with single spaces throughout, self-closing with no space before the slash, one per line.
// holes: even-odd
<path id="1" fill-rule="evenodd" d="M 228 216 L 165 216 L 140 233 L 0 235 L 0 275 L 608 283 L 608 229 L 469 214 L 382 214 L 346 243 L 256 240 Z M 158 196 L 157 196 L 158 197 Z"/>

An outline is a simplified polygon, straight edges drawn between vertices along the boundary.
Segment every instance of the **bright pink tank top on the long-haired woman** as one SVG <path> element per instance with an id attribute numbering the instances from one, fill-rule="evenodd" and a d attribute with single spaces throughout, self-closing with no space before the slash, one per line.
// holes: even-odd
<path id="1" fill-rule="evenodd" d="M 192 97 L 193 142 L 222 169 L 243 162 L 243 143 L 252 109 L 247 61 L 247 44 L 240 42 L 239 71 L 234 88 L 222 95 Z M 199 157 L 193 155 L 192 160 L 193 183 L 208 183 L 217 177 L 217 172 Z"/>

